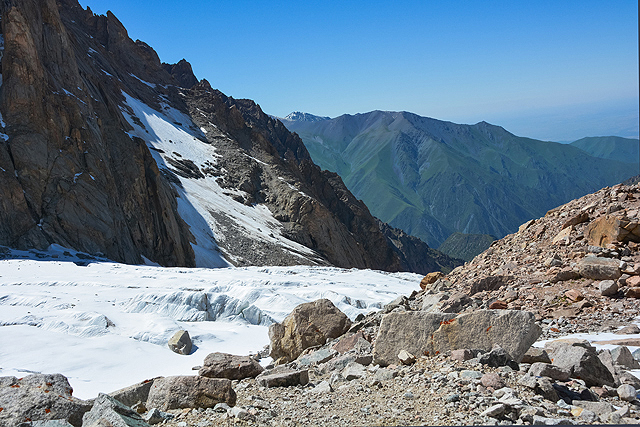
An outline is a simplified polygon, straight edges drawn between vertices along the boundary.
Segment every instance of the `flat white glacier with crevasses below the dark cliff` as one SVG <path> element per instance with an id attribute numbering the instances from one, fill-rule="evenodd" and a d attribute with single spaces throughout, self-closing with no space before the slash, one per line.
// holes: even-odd
<path id="1" fill-rule="evenodd" d="M 132 266 L 64 253 L 34 259 L 14 251 L 27 258 L 0 261 L 0 376 L 59 372 L 80 398 L 193 374 L 213 351 L 259 351 L 269 343 L 267 326 L 300 303 L 328 298 L 353 319 L 421 279 L 332 267 Z M 180 329 L 194 341 L 189 356 L 166 345 Z"/>

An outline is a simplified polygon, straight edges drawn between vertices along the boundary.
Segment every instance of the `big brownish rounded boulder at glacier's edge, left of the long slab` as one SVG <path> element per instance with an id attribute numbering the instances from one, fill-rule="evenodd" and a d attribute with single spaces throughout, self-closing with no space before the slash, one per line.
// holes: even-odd
<path id="1" fill-rule="evenodd" d="M 351 326 L 349 318 L 328 299 L 300 304 L 269 327 L 273 360 L 295 360 L 305 349 L 338 338 Z"/>

